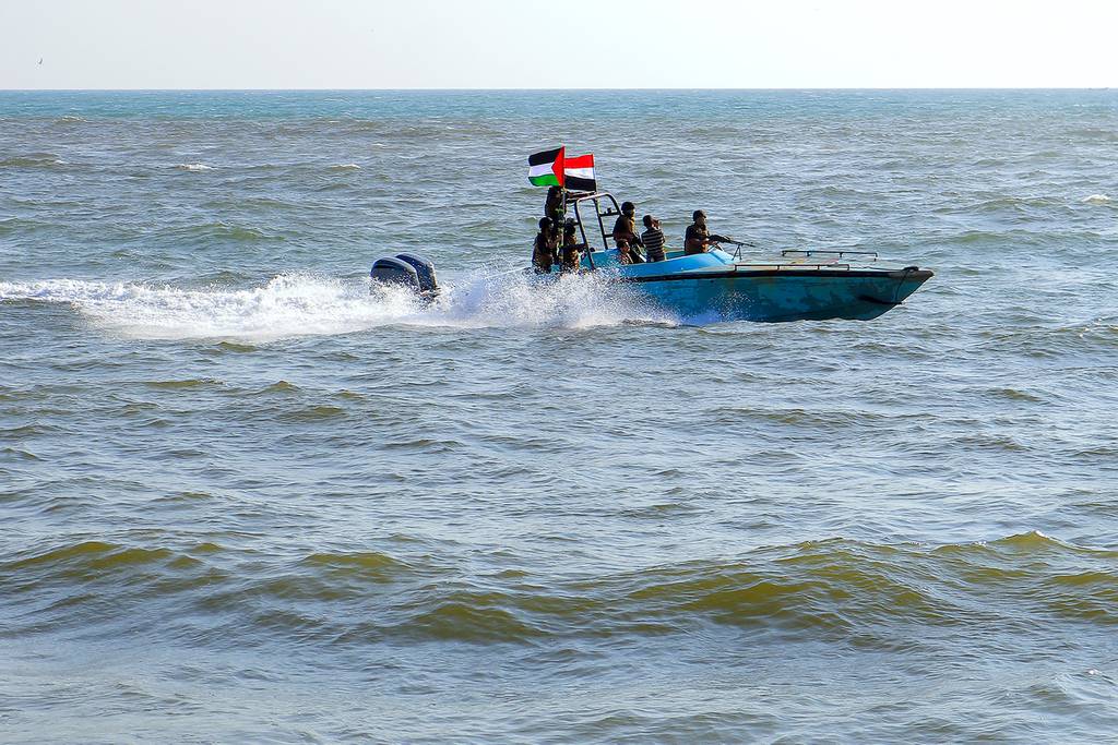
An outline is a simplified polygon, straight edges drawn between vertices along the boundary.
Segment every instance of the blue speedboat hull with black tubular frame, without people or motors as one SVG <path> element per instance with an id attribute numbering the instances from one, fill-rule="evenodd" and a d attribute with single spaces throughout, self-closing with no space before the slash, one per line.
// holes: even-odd
<path id="1" fill-rule="evenodd" d="M 588 249 L 581 270 L 610 276 L 681 318 L 869 321 L 903 303 L 932 276 L 916 266 L 881 266 L 874 251 L 788 249 L 776 258 L 750 259 L 742 255 L 748 245 L 738 241 L 732 241 L 737 243 L 732 252 L 721 247 L 690 256 L 667 250 L 663 261 L 623 265 L 617 249 L 608 248 L 606 232 L 606 218 L 620 214 L 617 200 L 608 192 L 575 193 L 568 204 L 574 206 Z M 597 228 L 591 230 L 593 241 L 586 230 L 588 220 Z M 598 239 L 600 248 L 594 246 Z"/>

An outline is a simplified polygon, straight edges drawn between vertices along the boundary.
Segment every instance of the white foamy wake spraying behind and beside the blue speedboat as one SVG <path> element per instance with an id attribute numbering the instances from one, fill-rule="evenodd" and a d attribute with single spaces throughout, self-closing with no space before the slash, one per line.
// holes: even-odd
<path id="1" fill-rule="evenodd" d="M 392 325 L 590 328 L 676 322 L 597 277 L 557 277 L 540 286 L 520 273 L 489 270 L 444 281 L 443 295 L 429 305 L 402 288 L 309 274 L 281 275 L 248 289 L 80 279 L 0 281 L 0 302 L 68 304 L 103 331 L 169 340 L 269 342 Z"/>

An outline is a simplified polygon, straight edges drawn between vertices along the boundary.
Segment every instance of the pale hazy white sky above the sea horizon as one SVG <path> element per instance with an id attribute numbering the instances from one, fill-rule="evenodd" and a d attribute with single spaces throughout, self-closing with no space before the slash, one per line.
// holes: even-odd
<path id="1" fill-rule="evenodd" d="M 0 0 L 0 88 L 1061 86 L 1118 0 Z"/>

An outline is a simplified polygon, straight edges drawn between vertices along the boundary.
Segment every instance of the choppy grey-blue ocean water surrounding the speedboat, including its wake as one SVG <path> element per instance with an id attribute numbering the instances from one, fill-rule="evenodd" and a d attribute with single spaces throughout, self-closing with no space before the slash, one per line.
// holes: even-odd
<path id="1" fill-rule="evenodd" d="M 560 142 L 936 277 L 533 290 Z M 1112 738 L 1116 174 L 1112 90 L 0 93 L 0 741 Z"/>

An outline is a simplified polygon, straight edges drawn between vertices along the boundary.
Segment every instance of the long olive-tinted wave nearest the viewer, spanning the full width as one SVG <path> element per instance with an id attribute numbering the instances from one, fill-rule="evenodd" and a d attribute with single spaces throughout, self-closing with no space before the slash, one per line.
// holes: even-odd
<path id="1" fill-rule="evenodd" d="M 1052 615 L 1118 624 L 1118 552 L 1039 532 L 939 546 L 830 538 L 547 583 L 522 572 L 476 577 L 453 556 L 428 553 L 318 552 L 267 565 L 255 555 L 238 564 L 236 553 L 209 543 L 172 550 L 86 539 L 0 562 L 0 576 L 9 592 L 65 605 L 60 623 L 86 622 L 75 608 L 83 603 L 101 615 L 113 613 L 106 601 L 114 596 L 178 595 L 231 614 L 241 632 L 263 627 L 329 642 L 532 643 L 716 624 L 892 643 L 898 624 L 982 629 Z"/>

